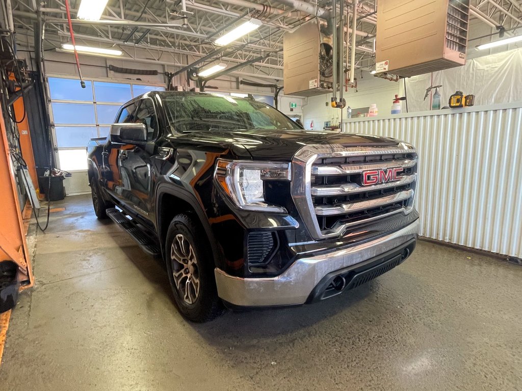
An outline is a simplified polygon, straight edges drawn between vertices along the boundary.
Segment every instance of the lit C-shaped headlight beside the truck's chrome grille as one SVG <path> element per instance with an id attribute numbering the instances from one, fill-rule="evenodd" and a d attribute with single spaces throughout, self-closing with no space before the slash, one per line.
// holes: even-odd
<path id="1" fill-rule="evenodd" d="M 265 180 L 290 180 L 290 163 L 240 162 L 218 159 L 214 173 L 219 184 L 241 209 L 287 213 L 265 201 Z"/>

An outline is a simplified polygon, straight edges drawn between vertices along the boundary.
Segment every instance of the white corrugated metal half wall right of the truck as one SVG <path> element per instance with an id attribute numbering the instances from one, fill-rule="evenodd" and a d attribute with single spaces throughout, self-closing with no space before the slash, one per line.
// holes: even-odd
<path id="1" fill-rule="evenodd" d="M 343 129 L 417 147 L 422 236 L 522 258 L 520 106 L 352 119 Z"/>

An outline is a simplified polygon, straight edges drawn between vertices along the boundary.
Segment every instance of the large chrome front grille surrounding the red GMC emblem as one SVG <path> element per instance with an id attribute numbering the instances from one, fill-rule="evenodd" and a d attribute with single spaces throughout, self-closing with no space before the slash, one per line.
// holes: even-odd
<path id="1" fill-rule="evenodd" d="M 315 239 L 335 237 L 353 226 L 409 213 L 417 166 L 417 152 L 405 143 L 392 148 L 308 145 L 292 162 L 292 197 Z M 397 178 L 363 184 L 364 172 L 388 175 L 394 168 L 400 170 Z"/>

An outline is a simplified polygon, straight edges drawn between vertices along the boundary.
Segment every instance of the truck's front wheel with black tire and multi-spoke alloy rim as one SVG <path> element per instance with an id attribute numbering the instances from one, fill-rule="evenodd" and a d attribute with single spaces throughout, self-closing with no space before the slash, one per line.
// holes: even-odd
<path id="1" fill-rule="evenodd" d="M 208 322 L 223 313 L 214 260 L 205 237 L 193 217 L 179 214 L 172 219 L 165 240 L 165 263 L 177 308 L 188 320 L 197 323 Z"/>

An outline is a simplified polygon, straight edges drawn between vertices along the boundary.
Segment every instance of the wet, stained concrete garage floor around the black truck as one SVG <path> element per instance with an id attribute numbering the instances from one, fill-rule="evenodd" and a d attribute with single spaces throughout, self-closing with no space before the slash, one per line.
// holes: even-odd
<path id="1" fill-rule="evenodd" d="M 53 207 L 13 311 L 0 390 L 520 390 L 522 267 L 421 241 L 312 306 L 186 322 L 158 261 L 92 212 Z"/>

